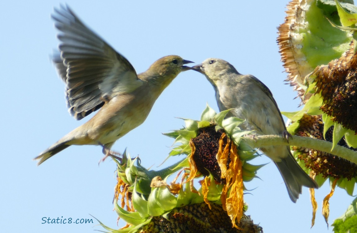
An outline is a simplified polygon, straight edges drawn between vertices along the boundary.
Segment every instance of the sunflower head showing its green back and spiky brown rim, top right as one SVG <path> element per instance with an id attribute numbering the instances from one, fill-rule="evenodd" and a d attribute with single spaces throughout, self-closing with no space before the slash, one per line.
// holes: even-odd
<path id="1" fill-rule="evenodd" d="M 351 11 L 357 9 L 353 4 L 342 5 Z M 285 22 L 278 27 L 277 42 L 288 73 L 286 81 L 303 102 L 310 97 L 305 93 L 305 76 L 316 66 L 340 57 L 352 40 L 351 33 L 338 30 L 326 18 L 339 23 L 333 1 L 292 0 L 287 5 Z"/>

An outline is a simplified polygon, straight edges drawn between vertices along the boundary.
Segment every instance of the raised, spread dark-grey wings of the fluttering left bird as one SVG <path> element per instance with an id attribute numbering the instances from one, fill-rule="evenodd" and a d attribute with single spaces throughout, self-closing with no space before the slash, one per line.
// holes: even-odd
<path id="1" fill-rule="evenodd" d="M 55 9 L 52 18 L 60 31 L 59 55 L 54 63 L 66 83 L 69 112 L 80 120 L 115 95 L 142 85 L 134 67 L 87 28 L 68 6 Z"/>

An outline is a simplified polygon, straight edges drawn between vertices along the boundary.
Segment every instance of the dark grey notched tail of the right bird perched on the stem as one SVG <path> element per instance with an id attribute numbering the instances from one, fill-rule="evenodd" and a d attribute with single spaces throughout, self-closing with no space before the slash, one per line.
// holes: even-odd
<path id="1" fill-rule="evenodd" d="M 293 202 L 299 198 L 302 186 L 308 188 L 318 188 L 315 180 L 306 174 L 306 172 L 299 166 L 295 158 L 289 151 L 289 156 L 283 158 L 281 162 L 275 162 L 281 176 L 285 182 L 289 197 Z"/>

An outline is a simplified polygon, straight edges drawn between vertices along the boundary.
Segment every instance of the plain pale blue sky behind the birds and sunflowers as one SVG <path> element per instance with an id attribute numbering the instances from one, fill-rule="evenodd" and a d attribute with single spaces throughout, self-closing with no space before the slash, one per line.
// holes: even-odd
<path id="1" fill-rule="evenodd" d="M 116 227 L 113 211 L 115 163 L 102 158 L 101 147 L 72 146 L 36 166 L 42 150 L 83 124 L 66 109 L 64 84 L 50 61 L 58 41 L 50 14 L 59 1 L 1 1 L 0 70 L 1 232 L 92 232 L 93 224 L 41 224 L 43 217 L 92 218 Z M 138 73 L 155 60 L 176 54 L 201 63 L 209 57 L 229 61 L 242 74 L 253 74 L 272 91 L 281 111 L 298 110 L 296 93 L 283 80 L 286 73 L 276 43 L 288 1 L 74 1 L 66 2 L 84 23 L 124 55 Z M 127 148 L 152 169 L 166 158 L 173 140 L 161 133 L 179 129 L 181 118 L 199 119 L 208 103 L 218 111 L 214 91 L 194 71 L 178 75 L 156 101 L 144 124 L 119 139 L 117 152 Z M 182 157 L 180 157 L 182 158 Z M 170 165 L 180 158 L 169 159 Z M 268 163 L 261 157 L 255 164 Z M 261 180 L 247 183 L 247 214 L 264 232 L 332 232 L 321 215 L 330 187 L 316 190 L 319 205 L 310 229 L 307 188 L 297 203 L 288 197 L 273 163 L 258 171 Z M 340 217 L 353 197 L 336 189 L 330 220 Z M 125 225 L 119 222 L 119 226 Z"/>

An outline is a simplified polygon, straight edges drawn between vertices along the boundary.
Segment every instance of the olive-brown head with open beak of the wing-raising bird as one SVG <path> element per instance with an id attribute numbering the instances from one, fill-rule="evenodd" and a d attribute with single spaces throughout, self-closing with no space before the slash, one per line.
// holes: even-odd
<path id="1" fill-rule="evenodd" d="M 190 67 L 185 64 L 193 63 L 192 61 L 184 60 L 177 55 L 169 55 L 155 61 L 149 68 L 150 71 L 156 73 L 157 76 L 165 76 L 167 78 L 175 78 L 181 71 L 186 71 Z"/>

